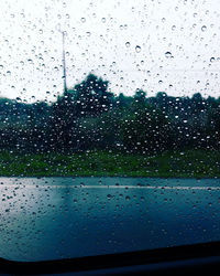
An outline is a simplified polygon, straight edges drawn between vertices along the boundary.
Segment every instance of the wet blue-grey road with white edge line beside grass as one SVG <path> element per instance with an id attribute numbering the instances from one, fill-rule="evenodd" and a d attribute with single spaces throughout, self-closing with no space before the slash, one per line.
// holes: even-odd
<path id="1" fill-rule="evenodd" d="M 0 256 L 57 259 L 220 240 L 219 179 L 1 178 Z"/>

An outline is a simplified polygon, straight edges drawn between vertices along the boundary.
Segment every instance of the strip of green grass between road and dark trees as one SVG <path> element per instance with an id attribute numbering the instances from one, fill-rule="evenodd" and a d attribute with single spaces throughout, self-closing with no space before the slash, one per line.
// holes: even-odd
<path id="1" fill-rule="evenodd" d="M 220 152 L 187 150 L 158 156 L 91 151 L 84 153 L 0 152 L 1 177 L 220 177 Z"/>

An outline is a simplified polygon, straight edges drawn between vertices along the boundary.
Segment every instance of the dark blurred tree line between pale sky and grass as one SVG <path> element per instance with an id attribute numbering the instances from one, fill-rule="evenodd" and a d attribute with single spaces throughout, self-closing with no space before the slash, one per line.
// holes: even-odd
<path id="1" fill-rule="evenodd" d="M 0 98 L 0 149 L 24 152 L 219 149 L 220 98 L 116 96 L 89 74 L 52 105 Z"/>

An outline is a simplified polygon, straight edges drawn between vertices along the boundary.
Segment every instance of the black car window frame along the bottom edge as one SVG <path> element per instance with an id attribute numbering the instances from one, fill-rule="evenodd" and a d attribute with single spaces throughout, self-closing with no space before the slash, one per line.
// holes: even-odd
<path id="1" fill-rule="evenodd" d="M 219 242 L 73 259 L 0 259 L 1 275 L 216 275 L 219 268 Z"/>

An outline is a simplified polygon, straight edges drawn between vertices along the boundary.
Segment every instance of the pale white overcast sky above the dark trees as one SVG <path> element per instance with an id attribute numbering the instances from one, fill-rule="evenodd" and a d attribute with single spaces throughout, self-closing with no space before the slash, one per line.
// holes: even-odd
<path id="1" fill-rule="evenodd" d="M 0 96 L 35 102 L 89 72 L 114 93 L 220 96 L 219 0 L 1 0 Z"/>

